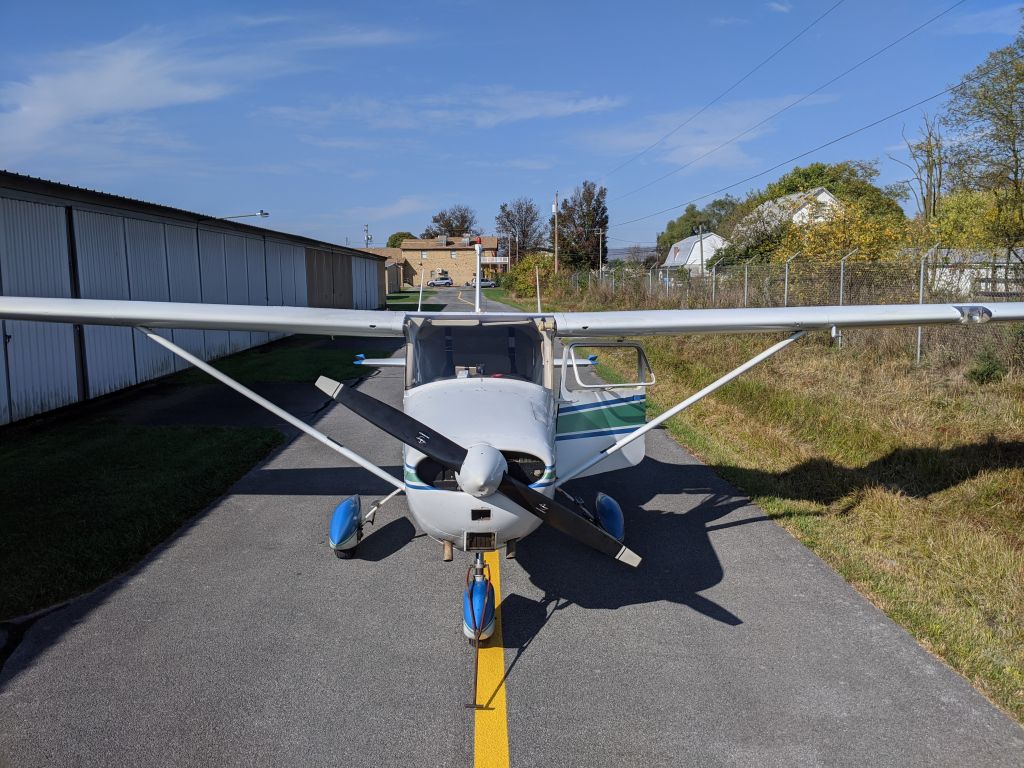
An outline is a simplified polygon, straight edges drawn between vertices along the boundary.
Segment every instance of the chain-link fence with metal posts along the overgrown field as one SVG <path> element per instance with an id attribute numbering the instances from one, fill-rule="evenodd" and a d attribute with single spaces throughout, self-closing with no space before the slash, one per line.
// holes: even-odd
<path id="1" fill-rule="evenodd" d="M 624 309 L 988 303 L 1024 299 L 1024 264 L 1005 253 L 938 249 L 896 261 L 797 256 L 784 263 L 718 264 L 703 272 L 620 262 L 574 273 L 568 287 L 584 303 Z M 1024 367 L 1024 325 L 1018 324 L 849 330 L 838 343 L 950 366 L 988 350 L 1008 366 Z"/>

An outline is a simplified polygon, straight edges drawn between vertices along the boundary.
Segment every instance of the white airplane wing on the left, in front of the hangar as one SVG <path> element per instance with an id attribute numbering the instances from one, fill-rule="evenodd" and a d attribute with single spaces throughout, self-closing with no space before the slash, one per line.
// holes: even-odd
<path id="1" fill-rule="evenodd" d="M 94 326 L 274 331 L 322 336 L 401 336 L 406 313 L 375 309 L 0 296 L 0 317 Z"/>

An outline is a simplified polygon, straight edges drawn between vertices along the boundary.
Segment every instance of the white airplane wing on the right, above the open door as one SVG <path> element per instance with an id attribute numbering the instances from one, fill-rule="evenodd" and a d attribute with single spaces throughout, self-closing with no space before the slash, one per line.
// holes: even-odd
<path id="1" fill-rule="evenodd" d="M 1024 321 L 1024 302 L 554 312 L 558 336 L 653 336 Z"/>

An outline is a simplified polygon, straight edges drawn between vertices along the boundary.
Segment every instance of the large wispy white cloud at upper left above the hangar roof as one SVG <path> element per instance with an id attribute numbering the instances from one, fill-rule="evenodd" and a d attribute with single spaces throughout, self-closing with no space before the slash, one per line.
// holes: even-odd
<path id="1" fill-rule="evenodd" d="M 204 39 L 145 29 L 110 43 L 51 54 L 32 72 L 0 84 L 0 165 L 69 147 L 96 152 L 148 142 L 138 122 L 159 110 L 216 101 L 253 83 L 317 66 L 309 54 L 389 45 L 408 39 L 384 29 L 338 28 L 254 45 L 211 46 Z M 104 133 L 105 131 L 105 133 Z M 152 142 L 151 142 L 152 143 Z"/>

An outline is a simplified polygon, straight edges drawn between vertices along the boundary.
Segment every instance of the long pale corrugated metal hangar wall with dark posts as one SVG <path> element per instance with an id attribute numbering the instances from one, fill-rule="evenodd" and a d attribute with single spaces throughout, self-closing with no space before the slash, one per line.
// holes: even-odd
<path id="1" fill-rule="evenodd" d="M 30 191 L 0 186 L 2 295 L 359 309 L 384 304 L 382 260 L 255 227 L 221 228 L 198 215 L 188 222 L 159 210 L 136 212 L 126 199 L 117 199 L 123 201 L 117 206 L 61 199 L 69 187 L 53 184 L 52 193 L 40 194 L 49 182 L 32 181 Z M 186 367 L 129 328 L 3 321 L 0 329 L 0 424 Z M 204 359 L 284 336 L 160 333 Z"/>

